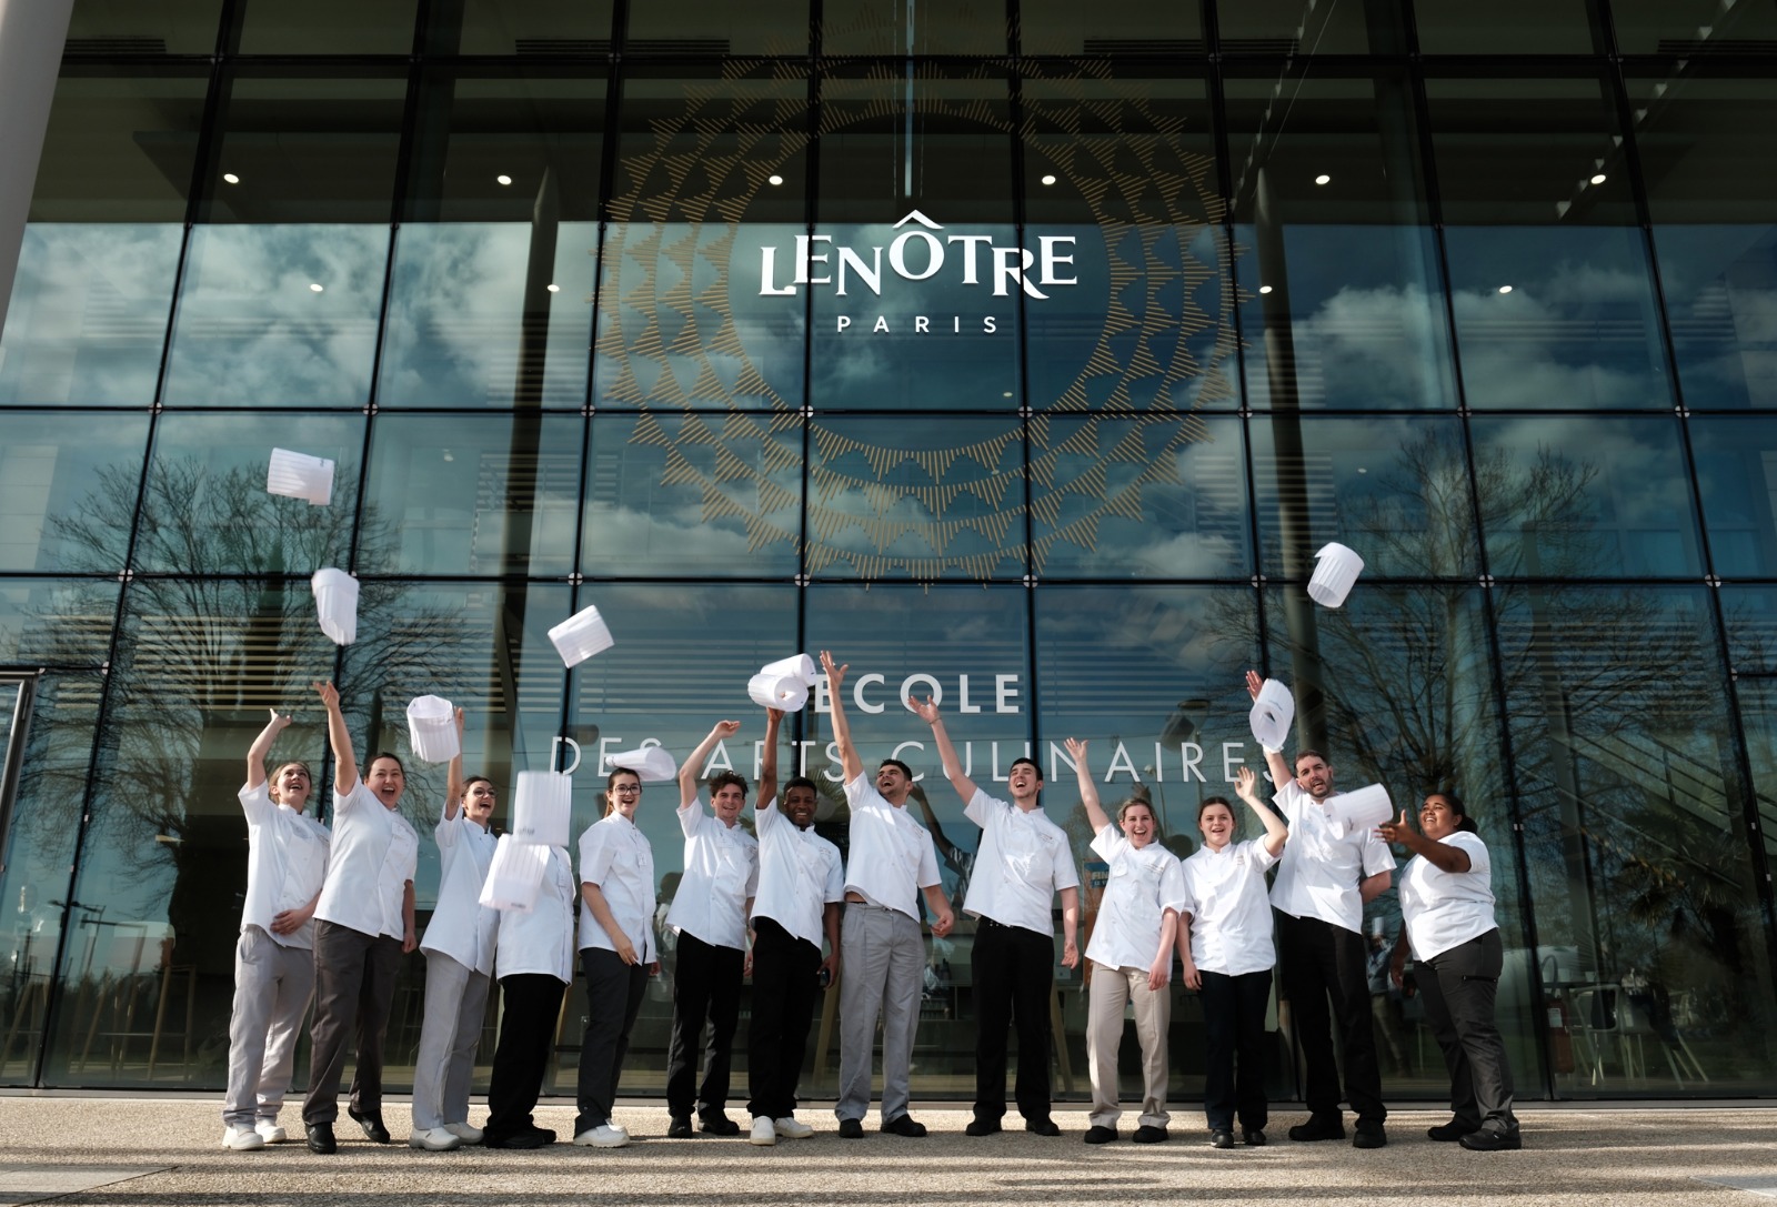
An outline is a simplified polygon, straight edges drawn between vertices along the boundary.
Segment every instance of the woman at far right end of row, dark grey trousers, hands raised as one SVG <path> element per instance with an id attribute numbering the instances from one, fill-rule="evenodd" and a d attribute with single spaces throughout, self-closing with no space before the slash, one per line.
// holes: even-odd
<path id="1" fill-rule="evenodd" d="M 1375 830 L 1400 843 L 1413 859 L 1400 876 L 1400 940 L 1395 944 L 1395 985 L 1406 976 L 1407 951 L 1425 1020 L 1450 1070 L 1448 1123 L 1427 1131 L 1432 1139 L 1494 1152 L 1521 1148 L 1512 1115 L 1512 1067 L 1494 1022 L 1503 951 L 1493 917 L 1493 860 L 1455 793 L 1432 793 L 1420 805 L 1420 832 L 1400 821 Z"/>

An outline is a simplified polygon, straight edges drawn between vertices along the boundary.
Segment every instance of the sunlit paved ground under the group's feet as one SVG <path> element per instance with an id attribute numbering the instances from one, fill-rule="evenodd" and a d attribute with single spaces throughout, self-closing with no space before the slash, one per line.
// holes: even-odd
<path id="1" fill-rule="evenodd" d="M 1040 1139 L 1009 1132 L 963 1136 L 967 1111 L 920 1107 L 926 1139 L 880 1136 L 842 1141 L 830 1111 L 805 1109 L 821 1132 L 777 1148 L 745 1139 L 665 1139 L 663 1107 L 620 1106 L 636 1143 L 617 1152 L 554 1145 L 540 1152 L 464 1148 L 414 1152 L 405 1104 L 391 1102 L 396 1143 L 347 1141 L 316 1157 L 300 1143 L 259 1152 L 220 1148 L 219 1100 L 0 1097 L 0 1203 L 254 1203 L 277 1207 L 419 1207 L 430 1203 L 1175 1203 L 1219 1200 L 1233 1207 L 1279 1203 L 1386 1205 L 1646 1203 L 1757 1207 L 1777 1202 L 1777 1104 L 1763 1107 L 1617 1109 L 1526 1107 L 1526 1148 L 1471 1154 L 1425 1139 L 1427 1111 L 1398 1111 L 1390 1145 L 1292 1145 L 1283 1132 L 1297 1113 L 1279 1113 L 1278 1143 L 1215 1152 L 1198 1116 L 1175 1115 L 1166 1145 L 1102 1148 L 1080 1143 L 1082 1111 L 1059 1111 L 1066 1134 Z M 293 1109 L 284 1123 L 295 1132 Z M 565 1131 L 572 1111 L 549 1106 L 544 1127 Z M 1729 1186 L 1706 1179 L 1718 1179 Z M 1747 1187 L 1736 1189 L 1738 1182 Z M 89 1187 L 89 1189 L 82 1189 Z"/>

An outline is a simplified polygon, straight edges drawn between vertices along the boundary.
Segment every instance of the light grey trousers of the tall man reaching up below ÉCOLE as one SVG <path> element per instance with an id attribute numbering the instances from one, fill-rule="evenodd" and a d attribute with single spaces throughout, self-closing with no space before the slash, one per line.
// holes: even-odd
<path id="1" fill-rule="evenodd" d="M 926 976 L 926 940 L 919 923 L 880 905 L 846 905 L 839 978 L 839 1104 L 841 1120 L 864 1120 L 871 1109 L 871 1056 L 876 1019 L 883 1024 L 881 1118 L 906 1115 L 913 1029 Z"/>

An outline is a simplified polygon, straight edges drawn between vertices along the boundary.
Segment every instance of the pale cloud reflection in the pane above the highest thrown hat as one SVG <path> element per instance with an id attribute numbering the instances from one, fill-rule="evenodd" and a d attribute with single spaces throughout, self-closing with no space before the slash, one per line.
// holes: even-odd
<path id="1" fill-rule="evenodd" d="M 387 251 L 382 224 L 194 228 L 167 404 L 364 404 Z"/>

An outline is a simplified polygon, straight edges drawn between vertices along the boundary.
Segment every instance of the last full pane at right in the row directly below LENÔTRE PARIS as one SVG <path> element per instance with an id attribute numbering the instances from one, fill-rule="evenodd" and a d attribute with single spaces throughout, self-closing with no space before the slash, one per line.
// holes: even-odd
<path id="1" fill-rule="evenodd" d="M 1500 578 L 1695 578 L 1676 418 L 1477 418 L 1487 560 Z"/>

